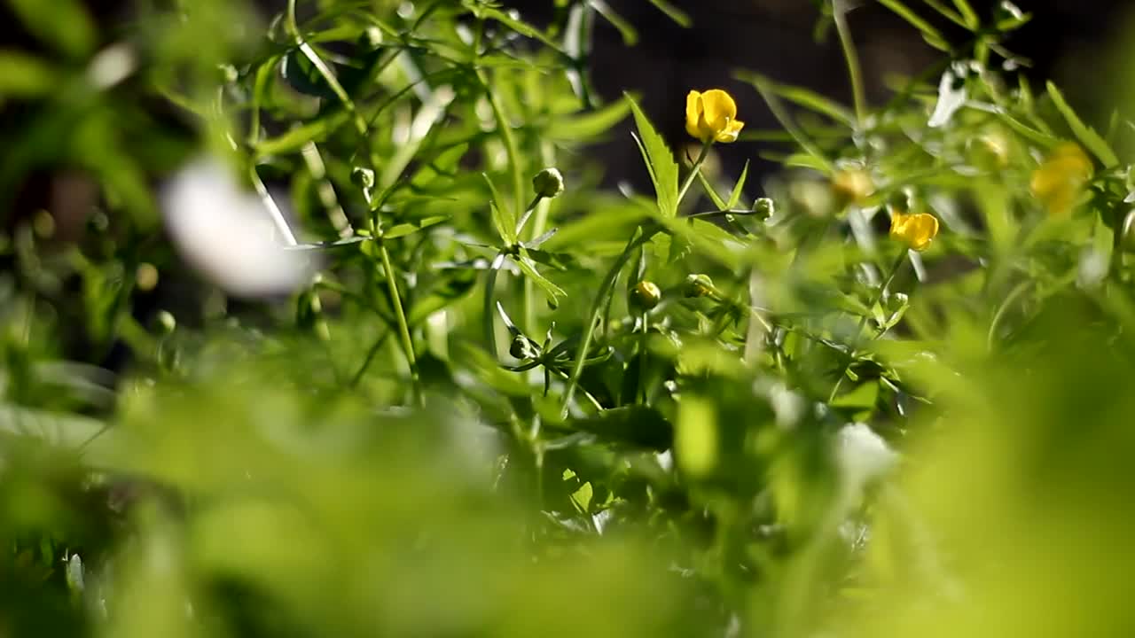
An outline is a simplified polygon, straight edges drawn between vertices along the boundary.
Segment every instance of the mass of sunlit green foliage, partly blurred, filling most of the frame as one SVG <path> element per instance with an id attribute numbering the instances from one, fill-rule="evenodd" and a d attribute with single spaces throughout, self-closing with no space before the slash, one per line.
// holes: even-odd
<path id="1" fill-rule="evenodd" d="M 872 108 L 817 1 L 859 99 L 739 70 L 757 185 L 600 103 L 602 2 L 10 0 L 0 636 L 1128 633 L 1132 125 L 883 3 L 942 62 Z M 201 157 L 313 277 L 186 258 Z"/>

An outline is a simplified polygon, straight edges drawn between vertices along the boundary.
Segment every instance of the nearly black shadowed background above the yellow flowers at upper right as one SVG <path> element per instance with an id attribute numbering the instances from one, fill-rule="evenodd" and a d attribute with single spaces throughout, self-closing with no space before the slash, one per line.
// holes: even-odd
<path id="1" fill-rule="evenodd" d="M 523 17 L 541 22 L 550 17 L 550 0 L 511 0 Z M 945 2 L 950 5 L 950 2 Z M 982 17 L 992 15 L 999 1 L 970 0 Z M 683 128 L 684 96 L 690 89 L 723 87 L 738 101 L 739 117 L 749 129 L 779 128 L 756 91 L 732 78 L 738 68 L 757 70 L 771 78 L 802 85 L 851 103 L 847 67 L 834 30 L 826 40 L 814 37 L 819 11 L 809 0 L 673 0 L 687 12 L 691 28 L 674 24 L 647 0 L 607 0 L 616 12 L 638 30 L 639 41 L 627 47 L 617 30 L 603 18 L 596 20 L 592 81 L 604 99 L 623 91 L 641 95 L 641 104 L 674 148 L 688 142 Z M 909 7 L 938 26 L 952 42 L 969 35 L 952 23 L 936 17 L 919 0 Z M 1090 102 L 1101 92 L 1093 83 L 1103 70 L 1099 57 L 1115 44 L 1135 9 L 1130 0 L 1018 0 L 1033 15 L 1007 47 L 1029 60 L 1026 73 L 1043 83 L 1054 78 L 1066 89 L 1074 106 L 1093 115 Z M 884 86 L 889 75 L 915 75 L 940 61 L 943 53 L 926 45 L 917 31 L 874 0 L 863 0 L 848 15 L 871 103 L 890 96 Z M 1034 86 L 1036 83 L 1034 83 Z M 1043 86 L 1043 84 L 1040 84 Z M 1102 114 L 1107 116 L 1107 114 Z M 1128 114 L 1129 115 L 1129 114 Z M 628 128 L 629 131 L 629 128 Z M 758 144 L 741 142 L 718 149 L 722 160 L 739 170 L 755 160 L 758 173 L 774 168 L 758 160 Z M 629 179 L 646 186 L 645 173 L 633 144 L 617 135 L 600 151 L 606 182 Z"/>

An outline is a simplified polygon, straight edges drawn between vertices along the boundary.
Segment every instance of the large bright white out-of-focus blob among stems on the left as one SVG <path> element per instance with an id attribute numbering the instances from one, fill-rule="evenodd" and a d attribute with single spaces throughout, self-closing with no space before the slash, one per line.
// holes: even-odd
<path id="1" fill-rule="evenodd" d="M 277 240 L 270 218 L 276 211 L 242 190 L 216 159 L 197 160 L 175 175 L 161 193 L 161 207 L 182 257 L 229 294 L 288 293 L 311 278 L 306 255 Z"/>

